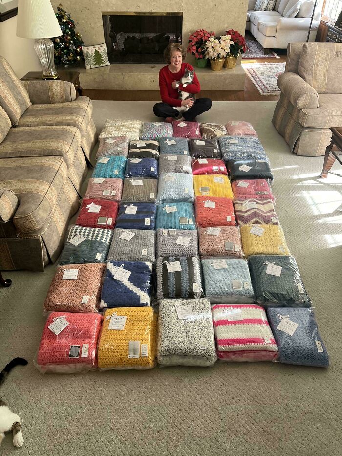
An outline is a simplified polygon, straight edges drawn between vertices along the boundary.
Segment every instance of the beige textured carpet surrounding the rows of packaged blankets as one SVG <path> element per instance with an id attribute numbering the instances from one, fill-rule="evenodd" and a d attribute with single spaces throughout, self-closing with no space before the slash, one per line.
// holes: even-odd
<path id="1" fill-rule="evenodd" d="M 107 118 L 150 120 L 152 102 L 94 102 Z M 329 369 L 216 363 L 85 375 L 41 375 L 32 364 L 54 266 L 7 273 L 0 289 L 0 366 L 12 371 L 1 398 L 21 415 L 24 446 L 7 435 L 0 454 L 337 456 L 342 453 L 342 168 L 319 179 L 323 157 L 297 157 L 271 124 L 273 102 L 215 102 L 201 120 L 252 122 L 271 159 L 276 211 L 310 294 Z"/>

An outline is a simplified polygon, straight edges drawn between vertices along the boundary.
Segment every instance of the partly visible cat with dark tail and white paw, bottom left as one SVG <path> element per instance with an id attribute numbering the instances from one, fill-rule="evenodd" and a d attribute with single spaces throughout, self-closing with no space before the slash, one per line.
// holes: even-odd
<path id="1" fill-rule="evenodd" d="M 23 358 L 14 358 L 10 361 L 5 368 L 0 372 L 0 386 L 5 381 L 8 373 L 15 366 L 26 366 L 27 361 Z M 13 445 L 20 448 L 24 439 L 21 432 L 20 417 L 11 412 L 5 401 L 0 400 L 0 445 L 5 436 L 5 432 L 13 431 Z"/>

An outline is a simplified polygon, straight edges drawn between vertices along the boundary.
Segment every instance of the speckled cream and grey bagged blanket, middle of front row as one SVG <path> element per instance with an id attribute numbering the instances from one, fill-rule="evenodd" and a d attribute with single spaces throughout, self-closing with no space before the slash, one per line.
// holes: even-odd
<path id="1" fill-rule="evenodd" d="M 217 359 L 209 299 L 163 299 L 159 304 L 158 363 L 213 366 Z"/>

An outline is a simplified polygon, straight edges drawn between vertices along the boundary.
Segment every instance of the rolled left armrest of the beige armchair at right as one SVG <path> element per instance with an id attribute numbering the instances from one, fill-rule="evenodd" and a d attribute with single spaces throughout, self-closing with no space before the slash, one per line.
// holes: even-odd
<path id="1" fill-rule="evenodd" d="M 277 86 L 298 109 L 318 108 L 320 97 L 316 90 L 304 81 L 299 74 L 286 72 L 280 74 Z"/>

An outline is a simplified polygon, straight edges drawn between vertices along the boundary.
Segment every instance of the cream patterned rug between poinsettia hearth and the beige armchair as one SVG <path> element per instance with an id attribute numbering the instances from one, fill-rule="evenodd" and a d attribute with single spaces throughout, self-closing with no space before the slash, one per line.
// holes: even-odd
<path id="1" fill-rule="evenodd" d="M 285 71 L 285 62 L 242 64 L 261 95 L 280 95 L 278 76 Z"/>

